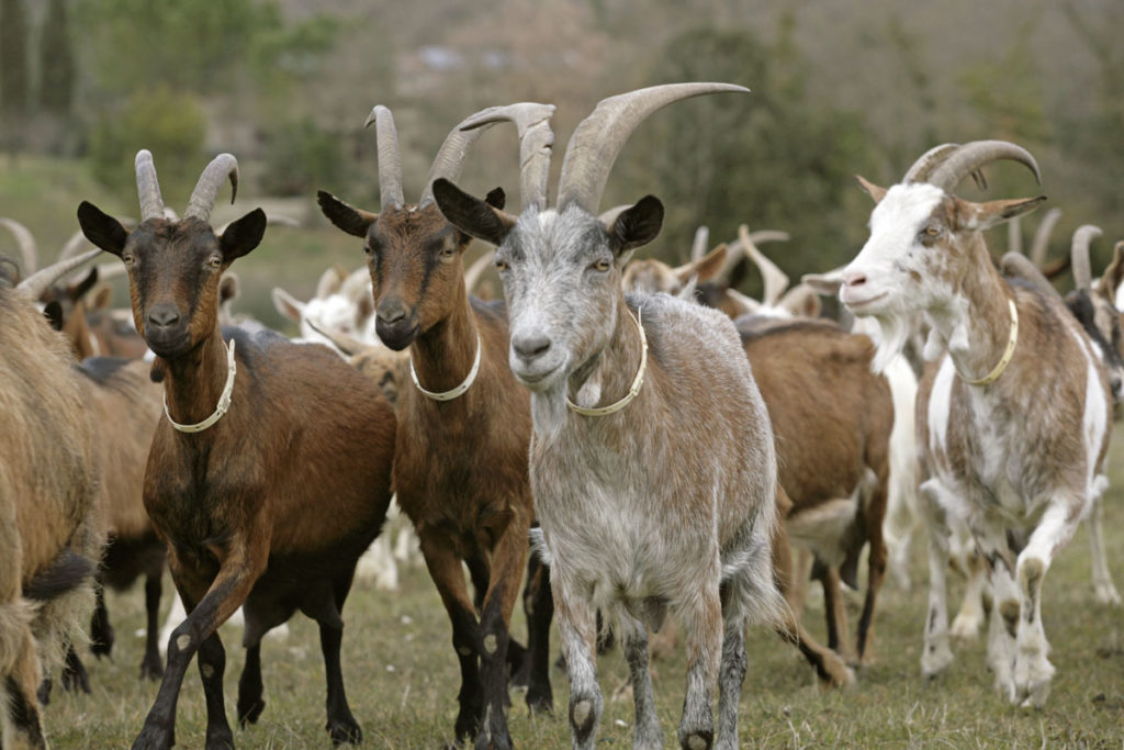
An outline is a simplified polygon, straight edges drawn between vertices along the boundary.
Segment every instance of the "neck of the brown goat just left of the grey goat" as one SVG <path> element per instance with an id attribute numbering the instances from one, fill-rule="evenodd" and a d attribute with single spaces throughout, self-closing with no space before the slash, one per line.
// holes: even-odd
<path id="1" fill-rule="evenodd" d="M 410 347 L 414 372 L 426 390 L 444 392 L 464 382 L 475 361 L 477 347 L 483 346 L 464 284 L 455 286 L 453 295 L 448 315 L 418 334 Z M 481 361 L 486 356 L 480 352 Z"/>

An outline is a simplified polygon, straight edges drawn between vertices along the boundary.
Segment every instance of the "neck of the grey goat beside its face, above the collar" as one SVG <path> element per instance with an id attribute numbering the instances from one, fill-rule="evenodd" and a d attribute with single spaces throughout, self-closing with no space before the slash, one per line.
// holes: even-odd
<path id="1" fill-rule="evenodd" d="M 637 325 L 642 324 L 640 308 L 631 309 L 622 295 L 613 309 L 616 324 L 605 347 L 579 365 L 566 381 L 566 397 L 582 408 L 606 407 L 625 398 L 644 359 L 645 344 Z M 580 414 L 573 416 L 579 419 L 598 418 Z"/>

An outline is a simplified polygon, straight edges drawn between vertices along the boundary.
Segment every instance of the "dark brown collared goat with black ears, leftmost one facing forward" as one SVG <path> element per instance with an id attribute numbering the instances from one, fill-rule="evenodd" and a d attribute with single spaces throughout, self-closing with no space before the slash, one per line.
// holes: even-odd
<path id="1" fill-rule="evenodd" d="M 362 731 L 339 665 L 339 612 L 355 561 L 390 501 L 393 412 L 373 383 L 326 347 L 269 333 L 220 333 L 219 278 L 265 232 L 261 209 L 220 237 L 208 223 L 223 181 L 229 177 L 237 190 L 234 156 L 208 164 L 180 220 L 164 218 L 147 151 L 137 154 L 136 175 L 142 223 L 135 231 L 87 201 L 78 209 L 87 237 L 128 269 L 137 329 L 156 354 L 154 378 L 164 382 L 166 418 L 148 454 L 144 504 L 189 612 L 169 641 L 164 678 L 134 747 L 174 743 L 175 703 L 197 653 L 207 744 L 234 743 L 218 626 L 239 605 L 247 648 L 239 723 L 255 722 L 264 707 L 262 634 L 300 609 L 320 630 L 332 740 L 357 742 Z"/>

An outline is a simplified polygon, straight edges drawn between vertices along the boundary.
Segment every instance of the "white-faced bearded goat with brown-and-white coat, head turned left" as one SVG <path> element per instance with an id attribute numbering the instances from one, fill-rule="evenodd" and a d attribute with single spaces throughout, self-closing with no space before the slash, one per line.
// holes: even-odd
<path id="1" fill-rule="evenodd" d="M 1028 707 L 1045 704 L 1054 672 L 1042 584 L 1106 485 L 1112 395 L 1073 316 L 1052 296 L 1005 282 L 984 242 L 985 229 L 1045 197 L 978 204 L 952 195 L 963 178 L 1003 159 L 1040 178 L 1028 152 L 998 141 L 937 146 L 889 189 L 860 178 L 876 207 L 870 238 L 844 269 L 840 299 L 878 320 L 876 369 L 901 350 L 917 314 L 931 326 L 925 355 L 936 359 L 946 347 L 917 399 L 923 505 L 970 528 L 998 614 L 990 618 L 988 663 L 1007 699 Z M 943 588 L 944 542 L 931 533 L 931 589 Z M 934 674 L 950 660 L 948 614 L 931 597 L 923 669 Z"/>

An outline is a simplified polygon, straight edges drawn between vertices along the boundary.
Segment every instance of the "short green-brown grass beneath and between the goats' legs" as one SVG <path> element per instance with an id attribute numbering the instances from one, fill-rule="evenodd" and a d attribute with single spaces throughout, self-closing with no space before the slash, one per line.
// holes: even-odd
<path id="1" fill-rule="evenodd" d="M 1117 430 L 1114 466 L 1124 467 L 1124 433 Z M 1115 472 L 1106 495 L 1109 567 L 1124 585 L 1124 470 Z M 796 652 L 761 629 L 747 643 L 750 672 L 742 696 L 744 747 L 949 747 L 949 748 L 1121 748 L 1124 747 L 1124 609 L 1097 604 L 1089 584 L 1088 541 L 1084 527 L 1058 557 L 1045 585 L 1043 618 L 1058 668 L 1050 702 L 1042 711 L 1009 706 L 991 689 L 982 639 L 955 648 L 957 661 L 932 684 L 918 668 L 924 618 L 925 571 L 921 545 L 913 562 L 914 590 L 887 581 L 876 614 L 873 661 L 846 690 L 823 693 Z M 356 587 L 347 602 L 344 676 L 352 710 L 375 748 L 434 748 L 451 739 L 456 712 L 459 670 L 451 630 L 433 584 L 422 567 L 402 571 L 395 594 Z M 960 582 L 952 578 L 952 607 Z M 169 587 L 170 588 L 170 587 Z M 166 597 L 165 597 L 166 599 Z M 856 599 L 855 599 L 856 600 Z M 57 748 L 120 748 L 132 742 L 156 693 L 137 680 L 142 640 L 140 587 L 109 595 L 118 640 L 112 661 L 88 659 L 92 695 L 58 694 L 46 710 L 48 737 Z M 167 602 L 164 602 L 164 608 Z M 852 623 L 858 608 L 852 608 Z M 954 609 L 953 609 L 954 612 Z M 805 614 L 823 638 L 822 599 Z M 329 747 L 324 725 L 324 670 L 310 621 L 297 616 L 287 640 L 263 645 L 266 707 L 257 725 L 235 731 L 244 748 Z M 526 629 L 517 613 L 513 631 Z M 241 631 L 223 630 L 227 647 L 227 713 L 244 652 Z M 558 645 L 554 645 L 554 653 Z M 683 697 L 681 659 L 655 665 L 655 693 L 668 747 Z M 599 662 L 606 693 L 602 747 L 631 747 L 632 703 L 610 701 L 626 675 L 618 652 Z M 565 677 L 554 670 L 555 714 L 529 716 L 523 696 L 513 693 L 511 737 L 524 748 L 569 747 Z M 206 712 L 198 672 L 184 680 L 176 735 L 180 747 L 202 747 Z"/>

